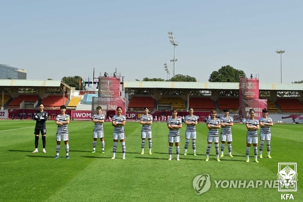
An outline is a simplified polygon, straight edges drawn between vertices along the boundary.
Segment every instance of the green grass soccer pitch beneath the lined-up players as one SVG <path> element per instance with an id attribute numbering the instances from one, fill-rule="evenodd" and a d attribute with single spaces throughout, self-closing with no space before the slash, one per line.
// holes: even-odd
<path id="1" fill-rule="evenodd" d="M 92 121 L 71 121 L 69 131 L 69 156 L 65 158 L 62 142 L 60 158 L 55 157 L 55 121 L 47 121 L 46 151 L 34 150 L 34 127 L 32 120 L 0 121 L 0 201 L 278 201 L 281 194 L 293 194 L 303 200 L 302 177 L 302 131 L 301 124 L 275 124 L 271 127 L 271 157 L 267 158 L 266 146 L 263 159 L 255 163 L 253 148 L 251 162 L 246 163 L 246 128 L 244 124 L 232 127 L 233 158 L 228 157 L 227 144 L 221 162 L 215 160 L 212 144 L 210 160 L 205 162 L 207 127 L 197 125 L 197 154 L 192 155 L 191 141 L 188 155 L 184 156 L 185 124 L 180 130 L 180 161 L 168 161 L 168 128 L 166 123 L 152 124 L 152 155 L 141 155 L 141 125 L 127 122 L 126 160 L 118 143 L 116 159 L 112 160 L 111 123 L 104 124 L 105 153 L 101 153 L 100 140 L 96 153 L 92 152 Z M 278 163 L 296 162 L 298 172 L 297 192 L 278 192 L 277 188 L 215 188 L 213 180 L 277 180 Z M 211 188 L 195 194 L 193 179 L 208 173 Z"/>

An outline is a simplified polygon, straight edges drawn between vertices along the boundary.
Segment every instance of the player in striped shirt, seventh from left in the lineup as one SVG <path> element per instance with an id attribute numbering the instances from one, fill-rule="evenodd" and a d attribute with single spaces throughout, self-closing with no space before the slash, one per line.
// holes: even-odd
<path id="1" fill-rule="evenodd" d="M 184 146 L 184 156 L 187 155 L 187 148 L 189 144 L 189 138 L 191 138 L 191 145 L 192 150 L 194 153 L 194 156 L 197 156 L 196 154 L 196 125 L 198 123 L 197 116 L 193 115 L 194 108 L 189 107 L 188 108 L 189 115 L 185 116 L 185 124 L 186 124 L 186 130 L 185 130 L 185 146 Z M 182 117 L 183 119 L 183 117 Z"/>

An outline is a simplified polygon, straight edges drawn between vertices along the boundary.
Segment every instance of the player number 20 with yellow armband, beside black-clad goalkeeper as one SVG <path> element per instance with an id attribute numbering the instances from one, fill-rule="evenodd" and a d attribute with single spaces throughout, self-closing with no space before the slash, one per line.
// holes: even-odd
<path id="1" fill-rule="evenodd" d="M 55 159 L 59 158 L 61 140 L 64 141 L 65 151 L 66 151 L 66 158 L 69 159 L 69 156 L 68 156 L 68 152 L 69 152 L 68 140 L 69 140 L 69 138 L 68 138 L 67 124 L 70 121 L 70 117 L 69 117 L 69 115 L 65 114 L 65 111 L 66 111 L 66 106 L 65 105 L 60 106 L 60 111 L 61 111 L 61 114 L 59 114 L 56 117 L 56 124 L 58 125 L 58 127 L 57 127 L 57 134 L 56 134 L 57 146 L 56 146 Z"/>

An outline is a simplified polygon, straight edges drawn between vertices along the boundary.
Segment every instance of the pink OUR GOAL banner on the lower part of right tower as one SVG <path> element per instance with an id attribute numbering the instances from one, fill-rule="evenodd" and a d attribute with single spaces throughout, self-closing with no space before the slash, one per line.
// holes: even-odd
<path id="1" fill-rule="evenodd" d="M 255 118 L 259 119 L 264 108 L 267 108 L 267 99 L 241 99 L 241 113 L 246 119 L 250 109 L 255 110 Z"/>

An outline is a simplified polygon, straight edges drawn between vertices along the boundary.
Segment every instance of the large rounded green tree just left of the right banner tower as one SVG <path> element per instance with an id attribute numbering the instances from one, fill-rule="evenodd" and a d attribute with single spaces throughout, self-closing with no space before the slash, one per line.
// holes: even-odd
<path id="1" fill-rule="evenodd" d="M 209 76 L 209 82 L 239 82 L 239 77 L 245 76 L 243 70 L 238 70 L 232 66 L 222 66 L 218 71 L 213 71 Z"/>

